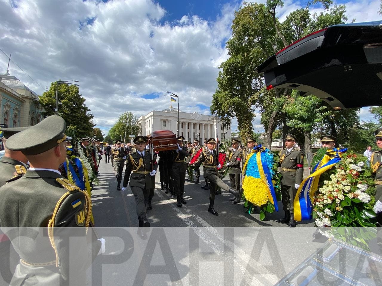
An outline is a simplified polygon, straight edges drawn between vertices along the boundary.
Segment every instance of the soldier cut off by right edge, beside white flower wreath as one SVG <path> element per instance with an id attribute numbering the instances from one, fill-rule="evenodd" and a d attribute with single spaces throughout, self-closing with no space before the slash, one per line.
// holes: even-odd
<path id="1" fill-rule="evenodd" d="M 379 148 L 371 154 L 370 167 L 374 176 L 376 186 L 376 204 L 374 212 L 377 214 L 377 222 L 382 226 L 382 128 L 375 131 L 376 143 Z"/>

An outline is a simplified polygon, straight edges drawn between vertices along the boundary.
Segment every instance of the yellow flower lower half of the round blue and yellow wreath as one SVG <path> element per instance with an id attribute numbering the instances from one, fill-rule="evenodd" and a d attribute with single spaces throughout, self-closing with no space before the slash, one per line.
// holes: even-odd
<path id="1" fill-rule="evenodd" d="M 243 182 L 244 196 L 256 206 L 268 202 L 268 186 L 260 178 L 246 176 Z"/>

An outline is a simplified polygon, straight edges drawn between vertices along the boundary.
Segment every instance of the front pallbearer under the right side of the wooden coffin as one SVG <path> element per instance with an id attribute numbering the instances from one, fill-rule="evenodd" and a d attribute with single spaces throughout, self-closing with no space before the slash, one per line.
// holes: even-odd
<path id="1" fill-rule="evenodd" d="M 187 148 L 183 147 L 183 141 L 185 137 L 179 136 L 176 138 L 178 140 L 178 150 L 173 154 L 172 163 L 172 177 L 174 184 L 174 193 L 176 195 L 176 206 L 181 207 L 182 204 L 187 204 L 185 199 L 183 199 L 183 193 L 185 192 L 185 180 L 186 180 L 186 161 L 185 158 L 188 156 Z"/>

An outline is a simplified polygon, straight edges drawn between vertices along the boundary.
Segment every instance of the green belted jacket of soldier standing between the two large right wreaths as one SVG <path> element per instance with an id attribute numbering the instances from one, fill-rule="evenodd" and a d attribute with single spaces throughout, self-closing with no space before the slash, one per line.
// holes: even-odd
<path id="1" fill-rule="evenodd" d="M 304 152 L 299 148 L 293 148 L 286 154 L 286 148 L 280 151 L 281 183 L 284 186 L 299 185 L 303 181 Z M 283 170 L 289 169 L 289 170 Z M 293 171 L 290 171 L 293 170 Z"/>

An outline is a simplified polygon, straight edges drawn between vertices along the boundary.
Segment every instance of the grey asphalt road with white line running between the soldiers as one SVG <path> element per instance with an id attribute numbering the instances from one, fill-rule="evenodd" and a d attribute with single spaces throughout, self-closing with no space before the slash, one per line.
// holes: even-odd
<path id="1" fill-rule="evenodd" d="M 260 221 L 226 192 L 215 198 L 219 215 L 210 214 L 203 179 L 186 182 L 187 204 L 179 208 L 160 191 L 159 175 L 142 240 L 133 194 L 117 191 L 112 164 L 102 161 L 99 170 L 93 214 L 106 252 L 89 269 L 92 285 L 274 285 L 325 242 L 312 238 L 313 221 L 289 228 L 275 221 L 282 211 Z"/>

